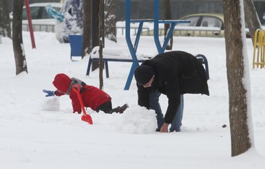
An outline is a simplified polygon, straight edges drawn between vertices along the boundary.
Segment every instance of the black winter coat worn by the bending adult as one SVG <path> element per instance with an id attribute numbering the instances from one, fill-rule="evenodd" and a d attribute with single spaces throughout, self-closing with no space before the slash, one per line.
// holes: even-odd
<path id="1" fill-rule="evenodd" d="M 158 91 L 167 95 L 168 107 L 165 123 L 172 123 L 180 105 L 180 94 L 209 95 L 206 72 L 202 63 L 192 54 L 182 51 L 165 52 L 142 65 L 155 71 L 150 88 L 138 86 L 138 105 L 149 108 L 149 92 Z"/>

